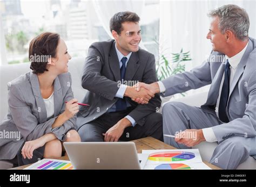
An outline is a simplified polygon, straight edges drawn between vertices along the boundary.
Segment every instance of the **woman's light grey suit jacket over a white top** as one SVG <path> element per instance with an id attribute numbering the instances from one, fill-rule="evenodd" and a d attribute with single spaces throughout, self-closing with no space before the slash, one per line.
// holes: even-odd
<path id="1" fill-rule="evenodd" d="M 0 141 L 0 160 L 13 159 L 24 141 L 40 138 L 46 133 L 53 133 L 57 139 L 65 140 L 65 133 L 75 128 L 76 116 L 62 126 L 51 128 L 55 119 L 65 111 L 65 101 L 73 98 L 71 75 L 58 75 L 54 81 L 54 116 L 47 119 L 44 100 L 39 89 L 38 77 L 32 72 L 19 76 L 8 84 L 8 114 L 0 125 L 0 132 L 5 132 Z M 6 132 L 20 133 L 8 138 Z"/>

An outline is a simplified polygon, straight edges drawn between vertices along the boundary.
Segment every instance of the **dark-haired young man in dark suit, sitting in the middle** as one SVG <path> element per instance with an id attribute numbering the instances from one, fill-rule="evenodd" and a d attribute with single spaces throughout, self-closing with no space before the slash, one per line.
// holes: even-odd
<path id="1" fill-rule="evenodd" d="M 89 48 L 82 87 L 89 90 L 77 115 L 82 141 L 130 141 L 152 136 L 163 140 L 163 119 L 157 113 L 161 100 L 137 82 L 157 81 L 154 55 L 139 48 L 139 17 L 118 12 L 110 20 L 114 40 L 95 42 Z M 145 105 L 133 100 L 143 98 Z M 152 98 L 152 99 L 151 99 Z M 150 100 L 151 99 L 151 100 Z"/>

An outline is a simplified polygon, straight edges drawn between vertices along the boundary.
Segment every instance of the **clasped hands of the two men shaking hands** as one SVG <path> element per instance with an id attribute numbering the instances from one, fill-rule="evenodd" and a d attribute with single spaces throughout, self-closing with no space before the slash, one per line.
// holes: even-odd
<path id="1" fill-rule="evenodd" d="M 149 100 L 159 92 L 160 89 L 157 82 L 152 84 L 138 82 L 133 87 L 127 87 L 124 96 L 130 97 L 134 102 L 137 102 L 138 104 L 147 104 L 149 103 Z"/>

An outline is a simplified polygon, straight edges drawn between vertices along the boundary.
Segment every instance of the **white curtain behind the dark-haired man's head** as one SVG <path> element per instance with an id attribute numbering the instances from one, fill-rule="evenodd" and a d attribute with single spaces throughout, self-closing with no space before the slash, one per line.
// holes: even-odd
<path id="1" fill-rule="evenodd" d="M 142 12 L 144 8 L 145 1 L 132 1 L 132 0 L 112 0 L 112 1 L 103 1 L 103 0 L 95 0 L 93 2 L 93 7 L 97 13 L 100 24 L 103 26 L 104 30 L 109 34 L 110 38 L 112 34 L 109 28 L 109 21 L 111 17 L 117 12 L 122 11 L 131 11 L 137 13 L 137 15 L 142 18 Z M 144 48 L 142 42 L 140 42 L 140 47 Z"/>

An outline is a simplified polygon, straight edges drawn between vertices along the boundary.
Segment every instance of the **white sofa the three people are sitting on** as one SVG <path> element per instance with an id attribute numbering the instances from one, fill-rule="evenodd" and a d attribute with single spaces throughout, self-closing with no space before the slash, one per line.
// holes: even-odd
<path id="1" fill-rule="evenodd" d="M 86 90 L 81 86 L 81 74 L 84 63 L 84 57 L 73 58 L 69 61 L 69 71 L 72 75 L 72 90 L 74 92 L 74 97 L 82 101 Z M 8 82 L 14 80 L 14 78 L 18 77 L 21 74 L 28 72 L 30 63 L 22 63 L 22 64 L 11 64 L 0 66 L 0 121 L 3 120 L 6 112 L 8 111 L 8 98 L 7 98 L 7 86 Z M 207 92 L 199 93 L 193 96 L 186 96 L 179 99 L 171 99 L 171 101 L 183 102 L 192 106 L 200 106 L 206 100 Z M 199 146 L 194 148 L 198 148 L 200 150 L 200 154 L 205 161 L 209 161 L 211 155 L 213 153 L 214 148 L 217 146 L 216 143 L 200 143 Z M 0 161 L 0 169 L 8 169 L 11 168 L 12 164 L 6 161 Z M 238 169 L 255 169 L 256 161 L 253 157 L 247 159 L 244 163 L 240 164 Z"/>

